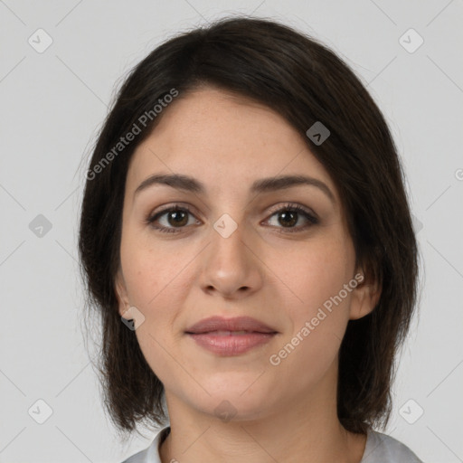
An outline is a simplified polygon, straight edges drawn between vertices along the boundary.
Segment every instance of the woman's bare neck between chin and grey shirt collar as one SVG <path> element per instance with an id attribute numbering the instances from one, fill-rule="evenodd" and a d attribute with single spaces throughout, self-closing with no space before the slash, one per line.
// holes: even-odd
<path id="1" fill-rule="evenodd" d="M 336 373 L 336 372 L 335 372 Z M 163 463 L 359 463 L 366 436 L 345 430 L 337 418 L 335 384 L 326 375 L 317 391 L 296 393 L 259 417 L 223 421 L 166 393 L 171 432 L 160 448 Z"/>

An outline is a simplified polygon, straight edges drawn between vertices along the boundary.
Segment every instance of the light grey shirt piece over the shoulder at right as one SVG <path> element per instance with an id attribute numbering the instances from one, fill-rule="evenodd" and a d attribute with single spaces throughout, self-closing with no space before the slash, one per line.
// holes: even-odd
<path id="1" fill-rule="evenodd" d="M 376 430 L 368 430 L 360 463 L 423 463 L 405 444 Z"/>

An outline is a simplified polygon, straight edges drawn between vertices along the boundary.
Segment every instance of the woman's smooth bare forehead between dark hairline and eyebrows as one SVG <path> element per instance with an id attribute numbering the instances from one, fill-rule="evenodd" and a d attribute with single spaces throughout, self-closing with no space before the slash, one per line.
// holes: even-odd
<path id="1" fill-rule="evenodd" d="M 156 173 L 194 176 L 207 189 L 241 194 L 255 180 L 309 175 L 335 185 L 305 140 L 273 109 L 224 90 L 180 95 L 137 146 L 128 170 L 132 193 Z"/>

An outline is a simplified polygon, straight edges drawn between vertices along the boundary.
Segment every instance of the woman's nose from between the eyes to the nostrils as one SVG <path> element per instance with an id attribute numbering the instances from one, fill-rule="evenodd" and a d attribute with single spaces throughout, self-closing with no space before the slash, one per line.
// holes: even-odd
<path id="1" fill-rule="evenodd" d="M 228 299 L 247 298 L 258 291 L 264 267 L 258 247 L 257 236 L 252 239 L 239 223 L 224 214 L 222 222 L 215 222 L 211 242 L 204 250 L 200 281 L 203 291 Z"/>

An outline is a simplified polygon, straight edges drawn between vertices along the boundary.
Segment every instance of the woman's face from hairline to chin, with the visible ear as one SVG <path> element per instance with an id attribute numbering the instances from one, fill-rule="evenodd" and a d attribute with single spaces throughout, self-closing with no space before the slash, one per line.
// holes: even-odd
<path id="1" fill-rule="evenodd" d="M 202 191 L 137 191 L 152 175 L 188 176 Z M 314 180 L 252 189 L 283 175 Z M 307 140 L 271 109 L 212 88 L 175 100 L 137 147 L 120 257 L 119 311 L 135 317 L 169 407 L 211 416 L 251 420 L 332 400 L 347 322 L 377 300 L 360 283 L 338 192 Z M 208 317 L 252 317 L 274 334 L 187 333 Z"/>

